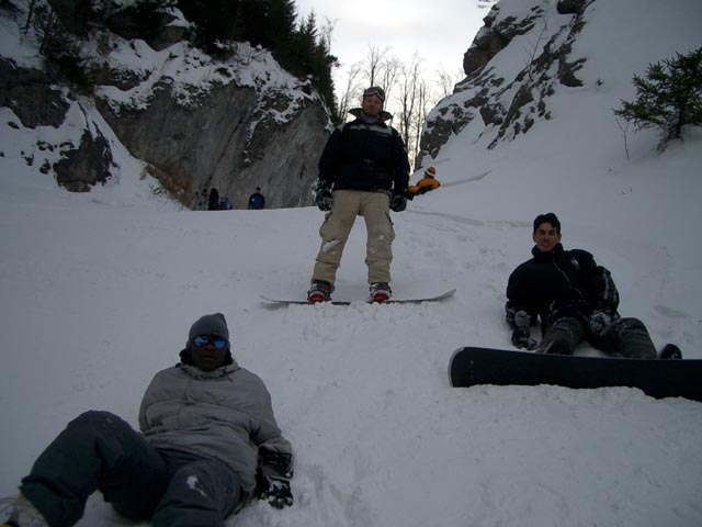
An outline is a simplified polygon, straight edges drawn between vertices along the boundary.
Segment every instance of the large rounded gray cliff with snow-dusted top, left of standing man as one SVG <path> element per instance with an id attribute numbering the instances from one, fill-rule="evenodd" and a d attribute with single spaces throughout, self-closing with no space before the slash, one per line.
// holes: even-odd
<path id="1" fill-rule="evenodd" d="M 124 56 L 126 46 L 114 45 Z M 202 190 L 216 188 L 242 209 L 257 187 L 268 208 L 312 204 L 329 116 L 306 81 L 248 44 L 224 49 L 222 59 L 185 43 L 128 49 L 128 60 L 91 64 L 102 85 L 98 109 L 183 204 L 194 208 Z"/>

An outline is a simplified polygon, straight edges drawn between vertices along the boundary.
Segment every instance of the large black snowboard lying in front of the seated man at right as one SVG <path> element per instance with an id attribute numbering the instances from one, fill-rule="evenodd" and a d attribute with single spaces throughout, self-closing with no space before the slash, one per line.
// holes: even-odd
<path id="1" fill-rule="evenodd" d="M 452 386 L 630 386 L 656 399 L 702 402 L 702 360 L 578 357 L 466 347 L 451 357 L 449 379 Z"/>

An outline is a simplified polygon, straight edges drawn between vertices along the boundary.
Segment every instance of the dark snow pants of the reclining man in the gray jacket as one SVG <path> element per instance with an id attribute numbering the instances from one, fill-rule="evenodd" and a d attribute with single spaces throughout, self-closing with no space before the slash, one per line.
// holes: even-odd
<path id="1" fill-rule="evenodd" d="M 109 412 L 86 412 L 44 450 L 20 490 L 50 527 L 69 527 L 94 491 L 120 515 L 154 527 L 224 526 L 241 498 L 223 462 L 151 447 Z"/>

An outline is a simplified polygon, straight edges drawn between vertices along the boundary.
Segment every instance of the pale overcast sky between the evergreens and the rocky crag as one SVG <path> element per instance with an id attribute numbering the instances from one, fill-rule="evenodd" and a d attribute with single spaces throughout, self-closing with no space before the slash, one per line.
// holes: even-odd
<path id="1" fill-rule="evenodd" d="M 463 70 L 463 54 L 483 26 L 487 9 L 476 0 L 295 0 L 297 12 L 317 15 L 317 26 L 333 25 L 331 54 L 341 66 L 337 85 L 352 64 L 367 56 L 369 46 L 392 52 L 409 64 L 415 52 L 424 71 Z M 339 86 L 337 86 L 339 88 Z"/>

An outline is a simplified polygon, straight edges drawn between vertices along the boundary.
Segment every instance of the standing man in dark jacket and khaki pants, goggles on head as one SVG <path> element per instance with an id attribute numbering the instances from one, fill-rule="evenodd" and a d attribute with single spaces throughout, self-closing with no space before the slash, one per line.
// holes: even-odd
<path id="1" fill-rule="evenodd" d="M 392 295 L 390 262 L 395 231 L 389 211 L 407 206 L 409 160 L 399 133 L 386 124 L 385 91 L 363 92 L 362 106 L 351 110 L 355 120 L 333 131 L 319 159 L 315 203 L 327 212 L 319 229 L 321 247 L 307 292 L 309 302 L 331 299 L 337 269 L 356 216 L 367 231 L 366 258 L 370 295 L 384 302 Z"/>

